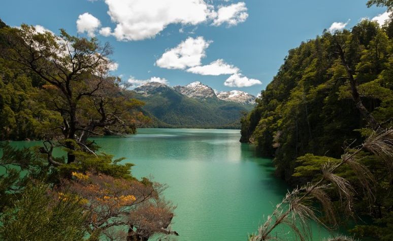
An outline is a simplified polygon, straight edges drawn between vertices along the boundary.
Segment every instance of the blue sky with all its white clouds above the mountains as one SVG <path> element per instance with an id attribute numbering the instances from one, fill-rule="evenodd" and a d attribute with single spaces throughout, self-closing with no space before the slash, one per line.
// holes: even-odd
<path id="1" fill-rule="evenodd" d="M 148 81 L 201 81 L 217 91 L 257 95 L 287 52 L 324 29 L 350 29 L 363 18 L 383 22 L 367 0 L 9 0 L 0 19 L 55 34 L 109 42 L 113 75 L 134 87 Z"/>

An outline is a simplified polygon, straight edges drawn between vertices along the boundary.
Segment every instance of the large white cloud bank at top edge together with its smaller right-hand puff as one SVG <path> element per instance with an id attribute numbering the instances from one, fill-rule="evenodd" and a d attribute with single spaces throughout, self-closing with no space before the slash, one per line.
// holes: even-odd
<path id="1" fill-rule="evenodd" d="M 105 3 L 116 27 L 113 32 L 104 29 L 103 33 L 106 36 L 111 33 L 119 41 L 154 38 L 170 24 L 198 25 L 213 21 L 215 26 L 224 23 L 234 26 L 248 17 L 244 2 L 219 7 L 206 0 L 105 0 Z"/>

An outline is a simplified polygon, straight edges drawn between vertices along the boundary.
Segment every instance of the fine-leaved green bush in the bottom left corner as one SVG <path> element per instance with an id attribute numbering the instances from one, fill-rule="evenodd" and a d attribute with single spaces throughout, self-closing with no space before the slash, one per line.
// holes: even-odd
<path id="1" fill-rule="evenodd" d="M 59 198 L 47 184 L 29 182 L 0 222 L 2 240 L 83 240 L 86 215 L 74 195 Z"/>

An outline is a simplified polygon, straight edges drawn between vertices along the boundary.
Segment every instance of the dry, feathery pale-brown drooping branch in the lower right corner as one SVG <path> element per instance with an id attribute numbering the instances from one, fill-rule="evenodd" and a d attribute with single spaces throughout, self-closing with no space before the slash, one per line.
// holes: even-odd
<path id="1" fill-rule="evenodd" d="M 335 165 L 326 163 L 323 165 L 321 170 L 322 178 L 320 180 L 288 192 L 282 202 L 277 204 L 273 214 L 267 217 L 265 223 L 259 226 L 258 232 L 251 235 L 249 240 L 278 240 L 279 237 L 273 236 L 271 233 L 279 225 L 287 225 L 295 234 L 297 240 L 310 240 L 312 238 L 310 220 L 321 223 L 328 228 L 329 226 L 326 223 L 330 224 L 331 228 L 336 228 L 336 214 L 332 200 L 326 191 L 333 188 L 336 190 L 345 210 L 340 215 L 352 215 L 353 195 L 355 193 L 347 179 L 334 173 L 342 165 L 348 165 L 353 170 L 371 204 L 375 200 L 375 178 L 370 170 L 360 163 L 358 159 L 358 154 L 365 149 L 384 161 L 389 171 L 392 170 L 393 130 L 374 131 L 361 146 L 352 150 L 346 148 L 340 163 Z M 315 199 L 321 204 L 322 212 L 312 206 L 312 200 Z M 318 219 L 316 215 L 318 212 L 324 214 L 325 222 L 322 223 Z M 338 236 L 325 239 L 325 241 L 353 241 L 353 239 L 347 236 Z"/>

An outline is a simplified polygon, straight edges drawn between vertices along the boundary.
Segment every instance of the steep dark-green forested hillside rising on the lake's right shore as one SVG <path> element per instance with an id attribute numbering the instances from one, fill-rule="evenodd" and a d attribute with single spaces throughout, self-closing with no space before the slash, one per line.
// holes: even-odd
<path id="1" fill-rule="evenodd" d="M 361 144 L 366 134 L 392 126 L 392 37 L 391 20 L 379 26 L 365 19 L 351 31 L 324 31 L 289 50 L 277 75 L 256 100 L 257 106 L 242 118 L 241 141 L 252 142 L 262 155 L 274 157 L 276 173 L 293 186 L 319 178 L 324 165 L 338 163 L 345 157 L 344 150 L 354 153 L 350 148 Z M 351 168 L 335 169 L 339 178 L 355 187 L 351 212 L 375 221 L 367 226 L 357 220 L 359 225 L 352 231 L 356 237 L 391 240 L 391 160 L 386 164 L 359 152 L 361 165 L 377 177 L 371 185 L 376 192 L 371 205 L 362 186 L 365 179 L 357 179 Z M 332 196 L 334 201 L 340 198 Z"/>

